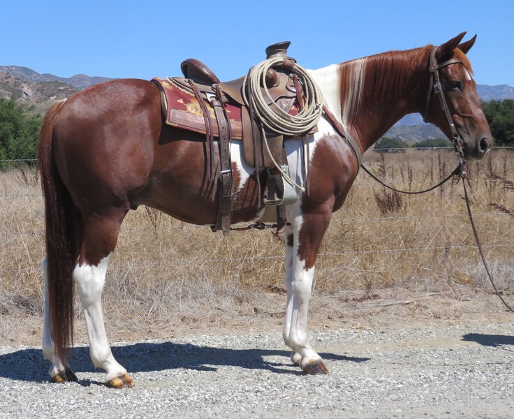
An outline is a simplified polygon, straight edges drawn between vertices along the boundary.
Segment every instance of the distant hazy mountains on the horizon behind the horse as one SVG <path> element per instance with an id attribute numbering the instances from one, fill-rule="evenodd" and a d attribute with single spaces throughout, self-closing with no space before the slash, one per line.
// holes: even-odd
<path id="1" fill-rule="evenodd" d="M 34 105 L 35 112 L 42 113 L 52 102 L 108 80 L 112 79 L 90 77 L 85 74 L 63 78 L 49 73 L 40 74 L 27 67 L 0 66 L 0 98 L 15 98 L 19 103 Z M 514 87 L 507 84 L 499 86 L 477 84 L 476 91 L 482 101 L 514 99 Z M 406 115 L 384 136 L 413 141 L 444 138 L 439 128 L 423 123 L 423 117 L 418 114 Z"/>

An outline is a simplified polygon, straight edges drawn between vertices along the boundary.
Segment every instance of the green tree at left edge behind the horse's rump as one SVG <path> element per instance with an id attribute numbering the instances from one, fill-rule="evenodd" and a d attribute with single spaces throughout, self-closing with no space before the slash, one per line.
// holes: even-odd
<path id="1" fill-rule="evenodd" d="M 27 106 L 0 98 L 0 160 L 36 159 L 41 122 Z M 0 167 L 8 163 L 0 162 Z"/>

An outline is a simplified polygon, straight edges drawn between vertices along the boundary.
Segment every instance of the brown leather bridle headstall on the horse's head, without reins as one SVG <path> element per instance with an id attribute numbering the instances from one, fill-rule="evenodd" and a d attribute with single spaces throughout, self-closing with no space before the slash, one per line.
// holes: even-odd
<path id="1" fill-rule="evenodd" d="M 446 98 L 444 96 L 443 88 L 441 87 L 441 80 L 439 78 L 439 69 L 449 66 L 450 64 L 462 64 L 462 61 L 458 58 L 450 58 L 448 61 L 444 61 L 441 64 L 437 64 L 436 60 L 436 51 L 437 47 L 433 47 L 430 52 L 429 62 L 428 62 L 428 71 L 430 72 L 430 82 L 427 94 L 427 102 L 425 104 L 425 113 L 423 114 L 423 122 L 427 122 L 428 110 L 430 107 L 430 101 L 432 99 L 432 91 L 439 98 L 439 103 L 441 104 L 441 109 L 444 111 L 446 115 L 446 120 L 448 121 L 448 125 L 450 126 L 450 130 L 452 131 L 452 144 L 453 149 L 455 149 L 455 154 L 460 159 L 460 161 L 464 162 L 464 152 L 462 151 L 462 147 L 464 145 L 464 140 L 457 132 L 457 128 L 455 128 L 455 123 L 453 122 L 453 117 L 450 114 L 450 109 L 448 108 L 448 104 L 446 103 Z"/>

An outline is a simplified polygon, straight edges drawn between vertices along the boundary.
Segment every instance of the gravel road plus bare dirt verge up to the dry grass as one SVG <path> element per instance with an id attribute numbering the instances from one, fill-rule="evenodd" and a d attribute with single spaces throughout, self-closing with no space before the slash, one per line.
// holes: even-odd
<path id="1" fill-rule="evenodd" d="M 80 324 L 71 362 L 79 382 L 48 383 L 41 318 L 2 316 L 0 417 L 512 416 L 514 314 L 497 297 L 315 295 L 311 343 L 326 376 L 306 376 L 288 360 L 282 299 L 167 324 L 108 318 L 113 352 L 135 381 L 125 390 L 103 385 Z"/>

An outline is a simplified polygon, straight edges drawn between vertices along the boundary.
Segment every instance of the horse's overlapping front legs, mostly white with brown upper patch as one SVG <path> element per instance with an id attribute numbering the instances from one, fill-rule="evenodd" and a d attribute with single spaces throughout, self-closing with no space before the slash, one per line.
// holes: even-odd
<path id="1" fill-rule="evenodd" d="M 321 356 L 309 344 L 307 318 L 314 262 L 329 222 L 330 213 L 298 216 L 286 228 L 287 305 L 283 337 L 293 350 L 291 360 L 307 374 L 328 373 Z"/>

